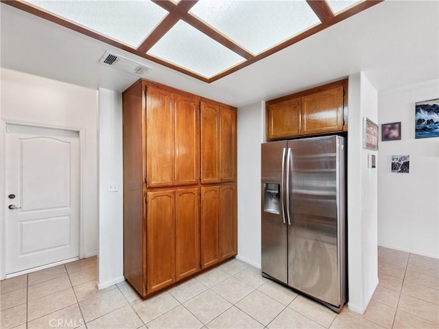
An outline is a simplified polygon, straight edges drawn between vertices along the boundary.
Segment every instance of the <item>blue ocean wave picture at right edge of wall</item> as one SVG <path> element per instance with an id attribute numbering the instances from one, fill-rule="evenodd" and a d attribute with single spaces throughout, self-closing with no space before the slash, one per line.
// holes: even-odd
<path id="1" fill-rule="evenodd" d="M 439 137 L 439 99 L 416 102 L 415 138 Z"/>

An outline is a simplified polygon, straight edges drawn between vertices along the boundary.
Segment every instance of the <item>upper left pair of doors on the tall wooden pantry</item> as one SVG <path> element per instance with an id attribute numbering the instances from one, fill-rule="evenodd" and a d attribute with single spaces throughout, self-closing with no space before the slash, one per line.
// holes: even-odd
<path id="1" fill-rule="evenodd" d="M 198 182 L 198 131 L 198 99 L 147 86 L 147 187 Z"/>

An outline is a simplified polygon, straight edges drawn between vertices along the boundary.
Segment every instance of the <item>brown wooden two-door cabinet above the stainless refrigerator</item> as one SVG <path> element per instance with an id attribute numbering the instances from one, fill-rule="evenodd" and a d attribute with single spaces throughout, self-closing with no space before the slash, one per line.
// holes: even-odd
<path id="1" fill-rule="evenodd" d="M 266 102 L 268 141 L 347 131 L 348 80 Z"/>

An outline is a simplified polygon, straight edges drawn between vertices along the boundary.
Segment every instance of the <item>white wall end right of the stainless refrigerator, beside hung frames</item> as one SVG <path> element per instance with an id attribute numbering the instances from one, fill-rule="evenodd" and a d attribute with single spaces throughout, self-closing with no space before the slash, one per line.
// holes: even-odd
<path id="1" fill-rule="evenodd" d="M 363 117 L 377 123 L 377 90 L 364 73 L 349 76 L 348 308 L 364 313 L 378 284 L 377 169 L 368 169 Z"/>

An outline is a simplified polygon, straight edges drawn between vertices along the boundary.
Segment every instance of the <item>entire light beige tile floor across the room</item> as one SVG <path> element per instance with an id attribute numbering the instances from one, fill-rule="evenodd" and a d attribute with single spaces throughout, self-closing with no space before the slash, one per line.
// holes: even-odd
<path id="1" fill-rule="evenodd" d="M 338 315 L 230 260 L 147 300 L 127 282 L 95 288 L 96 258 L 0 282 L 0 328 L 439 328 L 439 260 L 378 249 L 364 315 Z"/>

